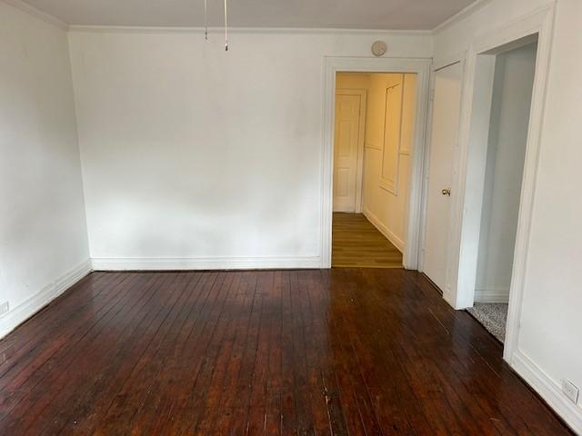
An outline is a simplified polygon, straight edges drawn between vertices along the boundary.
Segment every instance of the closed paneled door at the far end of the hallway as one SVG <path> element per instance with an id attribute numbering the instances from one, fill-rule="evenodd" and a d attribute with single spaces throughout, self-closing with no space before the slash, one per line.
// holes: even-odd
<path id="1" fill-rule="evenodd" d="M 336 94 L 334 212 L 358 212 L 364 150 L 366 91 Z"/>

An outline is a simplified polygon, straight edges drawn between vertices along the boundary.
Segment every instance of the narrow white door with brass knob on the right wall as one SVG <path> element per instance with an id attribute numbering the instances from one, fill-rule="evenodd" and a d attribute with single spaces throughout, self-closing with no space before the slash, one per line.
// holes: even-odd
<path id="1" fill-rule="evenodd" d="M 450 188 L 457 147 L 462 75 L 461 64 L 447 66 L 435 73 L 423 272 L 441 291 L 445 291 L 447 284 Z"/>

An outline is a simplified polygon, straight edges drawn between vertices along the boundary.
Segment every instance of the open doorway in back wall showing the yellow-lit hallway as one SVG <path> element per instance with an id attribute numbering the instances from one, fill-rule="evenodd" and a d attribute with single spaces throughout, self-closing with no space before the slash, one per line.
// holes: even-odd
<path id="1" fill-rule="evenodd" d="M 402 268 L 416 80 L 336 74 L 332 266 Z"/>

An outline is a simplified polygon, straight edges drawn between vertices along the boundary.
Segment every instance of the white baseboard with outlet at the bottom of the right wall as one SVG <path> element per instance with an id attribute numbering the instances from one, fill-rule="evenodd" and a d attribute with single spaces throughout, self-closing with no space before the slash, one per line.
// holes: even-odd
<path id="1" fill-rule="evenodd" d="M 576 433 L 582 434 L 582 408 L 567 399 L 559 384 L 537 367 L 526 354 L 516 350 L 511 367 L 566 421 Z"/>

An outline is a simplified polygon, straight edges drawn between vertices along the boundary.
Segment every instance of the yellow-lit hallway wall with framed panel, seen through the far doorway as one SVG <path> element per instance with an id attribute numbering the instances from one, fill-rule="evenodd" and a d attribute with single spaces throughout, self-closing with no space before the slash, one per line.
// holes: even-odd
<path id="1" fill-rule="evenodd" d="M 370 74 L 364 154 L 364 213 L 396 248 L 406 246 L 411 153 L 416 116 L 416 74 L 404 74 L 402 131 L 397 152 L 395 190 L 382 186 L 382 160 L 386 121 L 386 85 L 393 74 Z M 396 74 L 399 75 L 399 74 Z"/>

